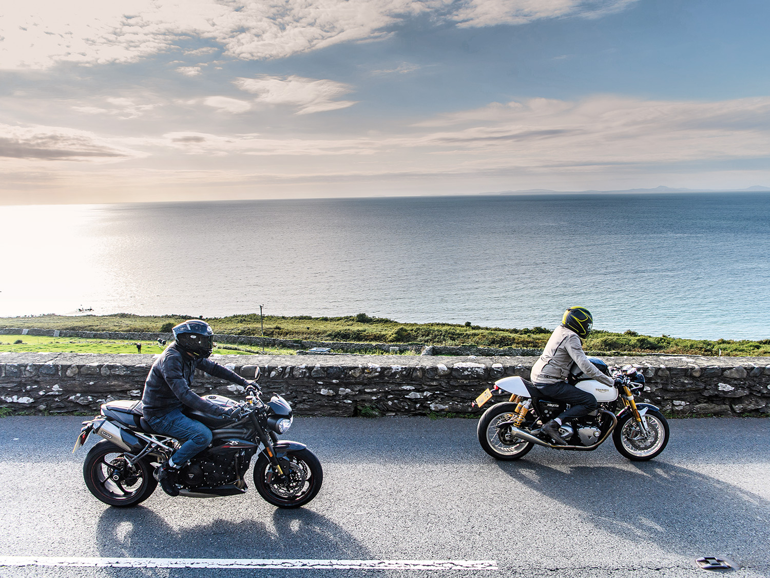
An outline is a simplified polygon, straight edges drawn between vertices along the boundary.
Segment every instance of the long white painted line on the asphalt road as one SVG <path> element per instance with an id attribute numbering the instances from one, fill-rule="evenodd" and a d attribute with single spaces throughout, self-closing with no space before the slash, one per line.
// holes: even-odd
<path id="1" fill-rule="evenodd" d="M 283 568 L 286 570 L 497 570 L 496 560 L 263 560 L 239 558 L 75 558 L 0 556 L 2 566 L 72 568 Z"/>

